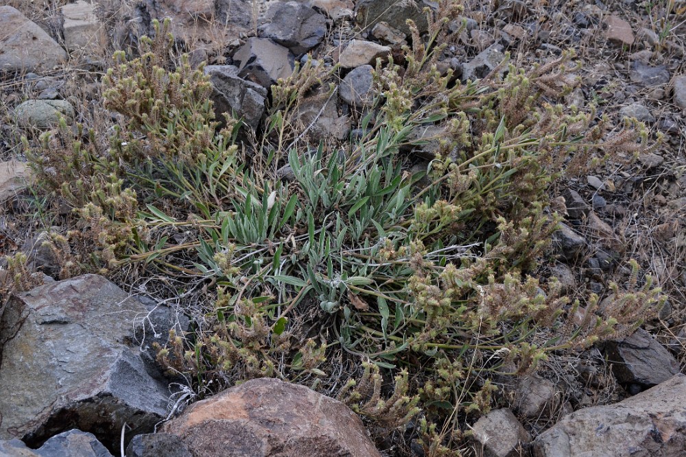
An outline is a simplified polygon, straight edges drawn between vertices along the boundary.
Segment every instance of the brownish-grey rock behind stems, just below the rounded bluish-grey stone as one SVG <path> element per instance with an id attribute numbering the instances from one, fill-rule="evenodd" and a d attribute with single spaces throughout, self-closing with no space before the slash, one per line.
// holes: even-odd
<path id="1" fill-rule="evenodd" d="M 340 116 L 336 102 L 338 89 L 332 95 L 329 90 L 319 90 L 318 93 L 305 97 L 298 106 L 298 120 L 309 127 L 307 135 L 317 143 L 320 140 L 336 138 L 344 140 L 350 133 L 351 121 L 349 116 Z"/>

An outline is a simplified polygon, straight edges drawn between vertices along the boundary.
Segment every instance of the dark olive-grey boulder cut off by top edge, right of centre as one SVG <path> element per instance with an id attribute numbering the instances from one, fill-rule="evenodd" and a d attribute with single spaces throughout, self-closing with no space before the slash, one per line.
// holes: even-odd
<path id="1" fill-rule="evenodd" d="M 436 9 L 436 4 L 429 0 L 399 3 L 397 0 L 361 0 L 355 8 L 355 21 L 360 27 L 371 27 L 381 21 L 388 23 L 403 34 L 410 35 L 407 19 L 414 21 L 420 34 L 429 29 L 427 16 L 422 11 L 429 7 Z"/>

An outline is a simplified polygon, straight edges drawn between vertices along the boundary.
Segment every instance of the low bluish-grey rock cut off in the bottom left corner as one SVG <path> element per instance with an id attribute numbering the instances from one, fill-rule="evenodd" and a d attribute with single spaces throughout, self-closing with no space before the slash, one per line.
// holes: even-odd
<path id="1" fill-rule="evenodd" d="M 30 449 L 22 441 L 0 441 L 3 457 L 112 457 L 112 454 L 91 433 L 69 430 L 45 441 L 38 449 Z"/>

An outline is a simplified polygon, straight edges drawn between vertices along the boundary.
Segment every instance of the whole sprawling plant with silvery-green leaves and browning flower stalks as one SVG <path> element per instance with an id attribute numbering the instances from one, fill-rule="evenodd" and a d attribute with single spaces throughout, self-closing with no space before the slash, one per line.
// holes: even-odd
<path id="1" fill-rule="evenodd" d="M 202 69 L 172 64 L 164 24 L 141 56 L 115 55 L 109 145 L 62 125 L 30 154 L 44 188 L 78 208 L 61 249 L 71 274 L 134 268 L 202 286 L 213 301 L 194 334 L 172 334 L 158 357 L 201 395 L 260 376 L 299 382 L 381 428 L 419 415 L 427 455 L 458 452 L 458 418 L 488 410 L 495 373 L 636 328 L 659 301 L 650 280 L 601 313 L 598 297 L 571 303 L 526 273 L 558 223 L 552 186 L 600 151 L 645 149 L 645 129 L 608 133 L 592 108 L 554 104 L 571 55 L 465 84 L 441 75 L 455 6 L 429 14 L 403 65 L 377 64 L 362 135 L 344 142 L 311 143 L 296 116 L 335 67 L 306 64 L 274 86 L 248 140 L 239 121 L 216 121 Z M 440 135 L 418 135 L 427 126 Z M 434 160 L 413 172 L 407 151 L 429 141 Z"/>

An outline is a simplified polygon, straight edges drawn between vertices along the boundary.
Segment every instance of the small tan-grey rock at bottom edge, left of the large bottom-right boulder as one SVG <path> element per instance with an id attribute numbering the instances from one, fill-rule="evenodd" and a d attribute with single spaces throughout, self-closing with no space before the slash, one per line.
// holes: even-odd
<path id="1" fill-rule="evenodd" d="M 482 445 L 484 457 L 515 457 L 521 455 L 520 443 L 529 443 L 531 436 L 508 408 L 493 410 L 473 425 L 474 439 Z"/>

